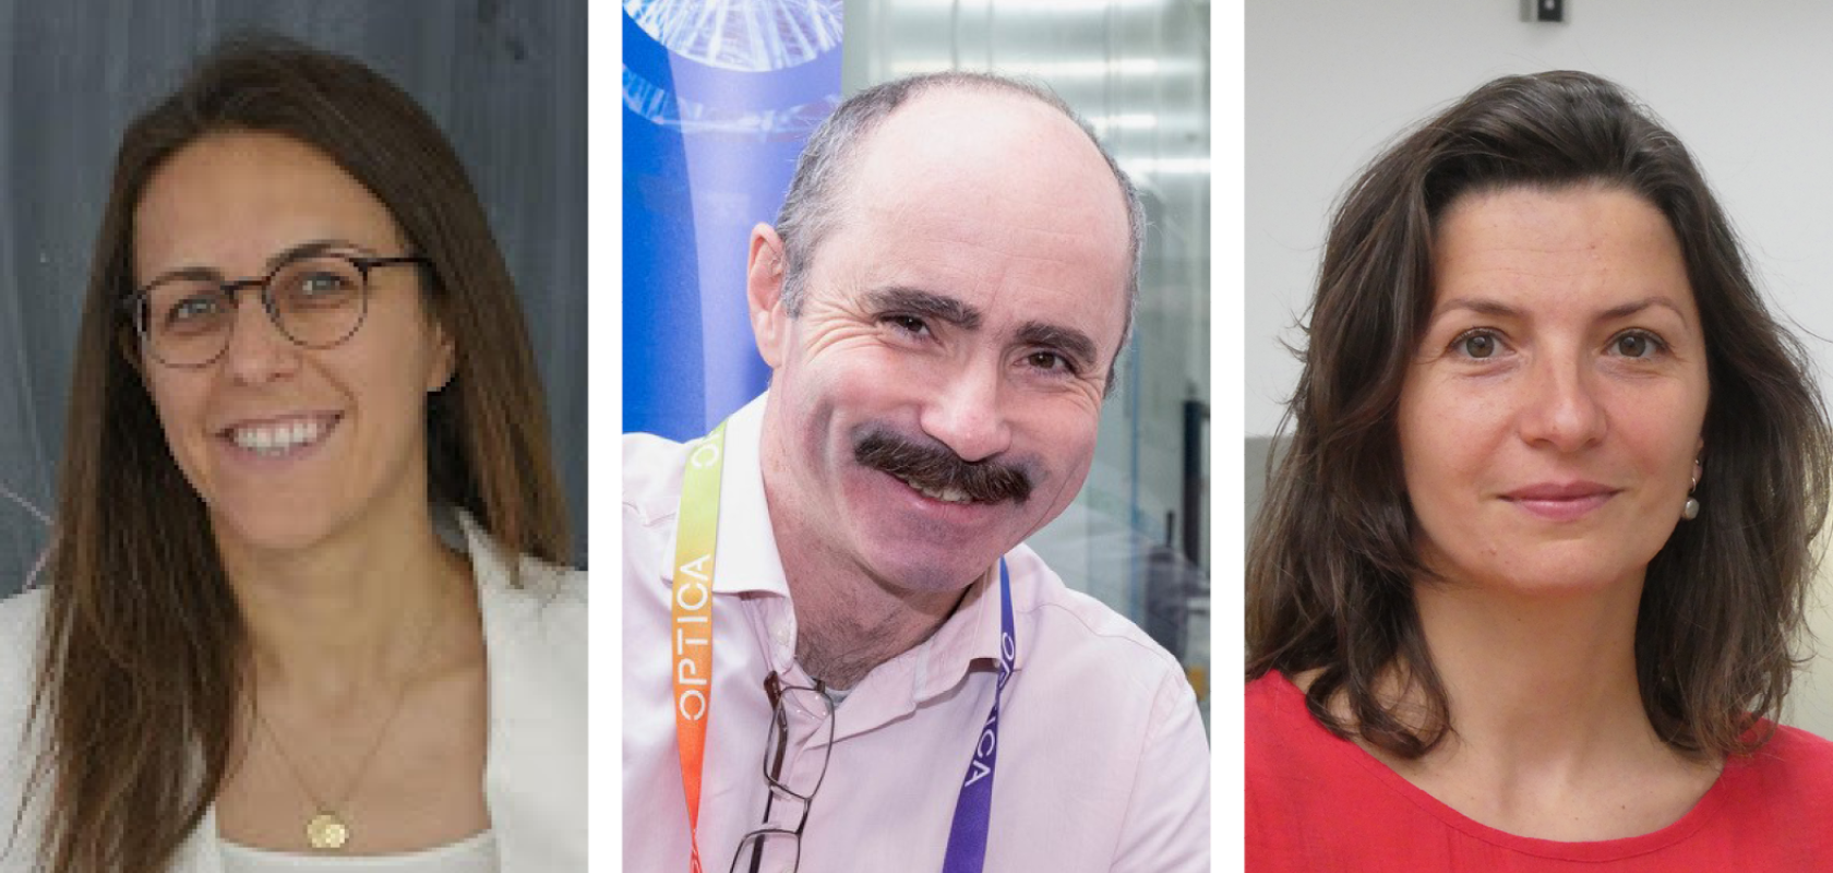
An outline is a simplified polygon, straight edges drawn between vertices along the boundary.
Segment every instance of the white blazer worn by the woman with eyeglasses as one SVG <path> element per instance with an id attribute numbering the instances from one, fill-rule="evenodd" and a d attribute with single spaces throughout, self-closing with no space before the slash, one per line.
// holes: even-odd
<path id="1" fill-rule="evenodd" d="M 585 572 L 510 556 L 458 514 L 484 614 L 489 745 L 484 803 L 504 873 L 587 867 L 587 592 Z M 456 532 L 447 539 L 458 545 Z M 37 820 L 13 822 L 37 748 L 22 737 L 44 620 L 44 591 L 0 602 L 0 873 L 31 869 Z M 37 805 L 37 803 L 35 803 Z M 216 812 L 178 849 L 170 873 L 222 873 Z"/>

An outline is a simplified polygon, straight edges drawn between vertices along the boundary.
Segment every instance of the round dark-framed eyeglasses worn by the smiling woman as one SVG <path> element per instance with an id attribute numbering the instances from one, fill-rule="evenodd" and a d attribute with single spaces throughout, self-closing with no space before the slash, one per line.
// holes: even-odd
<path id="1" fill-rule="evenodd" d="M 207 367 L 222 358 L 242 288 L 260 288 L 262 308 L 288 339 L 330 348 L 363 326 L 370 270 L 396 264 L 431 266 L 431 260 L 302 251 L 260 279 L 231 282 L 214 270 L 180 270 L 154 279 L 121 306 L 132 314 L 141 347 L 169 367 Z"/>

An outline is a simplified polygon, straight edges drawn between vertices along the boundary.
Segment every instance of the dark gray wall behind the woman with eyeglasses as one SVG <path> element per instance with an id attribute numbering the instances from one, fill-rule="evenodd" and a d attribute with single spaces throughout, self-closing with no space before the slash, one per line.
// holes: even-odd
<path id="1" fill-rule="evenodd" d="M 583 0 L 0 0 L 0 488 L 49 514 L 90 248 L 126 121 L 260 28 L 412 94 L 464 160 L 522 295 L 585 561 Z M 0 596 L 48 541 L 0 492 Z"/>

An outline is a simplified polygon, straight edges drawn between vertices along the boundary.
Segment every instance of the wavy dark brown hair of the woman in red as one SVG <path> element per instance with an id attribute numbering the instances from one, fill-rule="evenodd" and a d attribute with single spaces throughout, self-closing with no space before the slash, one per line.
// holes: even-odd
<path id="1" fill-rule="evenodd" d="M 1395 413 L 1433 304 L 1435 222 L 1459 196 L 1516 185 L 1630 191 L 1679 238 L 1710 380 L 1696 492 L 1705 512 L 1648 567 L 1637 679 L 1670 746 L 1749 750 L 1747 730 L 1780 713 L 1796 666 L 1833 462 L 1826 411 L 1806 350 L 1771 317 L 1692 156 L 1622 88 L 1576 72 L 1477 88 L 1344 194 L 1281 424 L 1290 436 L 1248 545 L 1248 679 L 1316 671 L 1312 717 L 1397 756 L 1417 757 L 1450 730 L 1413 603 L 1413 580 L 1428 574 Z M 1384 704 L 1384 675 L 1410 680 L 1424 715 Z"/>

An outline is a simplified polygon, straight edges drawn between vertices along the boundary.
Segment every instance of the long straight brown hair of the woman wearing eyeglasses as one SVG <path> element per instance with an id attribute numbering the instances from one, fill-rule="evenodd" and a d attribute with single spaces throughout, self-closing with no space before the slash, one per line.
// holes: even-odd
<path id="1" fill-rule="evenodd" d="M 31 715 L 38 856 L 55 873 L 165 869 L 229 767 L 246 636 L 121 304 L 147 180 L 225 130 L 306 143 L 389 209 L 431 262 L 425 301 L 456 348 L 453 380 L 427 398 L 429 499 L 464 508 L 508 550 L 568 558 L 515 286 L 438 125 L 352 59 L 269 35 L 224 42 L 125 130 L 92 257 Z"/>

